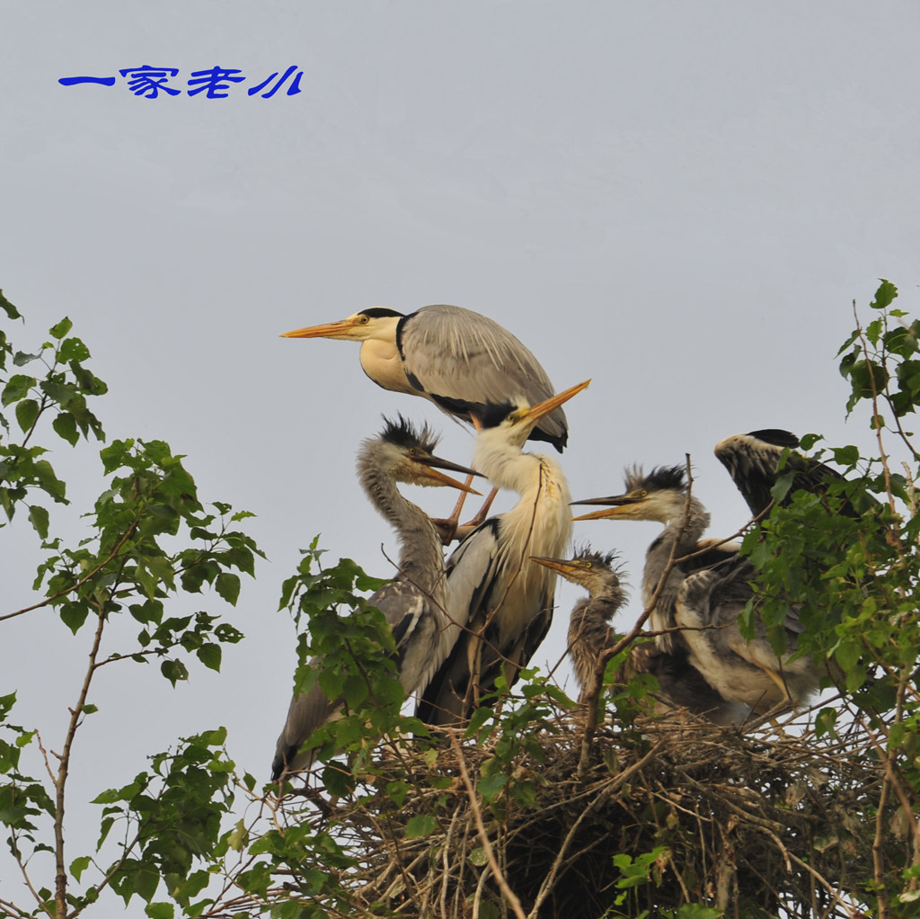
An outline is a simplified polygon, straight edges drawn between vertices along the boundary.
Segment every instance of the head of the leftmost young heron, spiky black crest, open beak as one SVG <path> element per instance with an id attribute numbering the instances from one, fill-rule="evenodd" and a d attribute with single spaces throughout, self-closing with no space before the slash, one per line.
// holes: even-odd
<path id="1" fill-rule="evenodd" d="M 478 474 L 466 466 L 436 457 L 433 451 L 438 440 L 428 425 L 419 430 L 402 415 L 397 415 L 396 421 L 384 418 L 384 423 L 384 429 L 378 436 L 364 441 L 359 465 L 374 464 L 397 482 L 456 488 L 461 492 L 481 494 L 438 471 L 443 469 L 461 474 Z"/>

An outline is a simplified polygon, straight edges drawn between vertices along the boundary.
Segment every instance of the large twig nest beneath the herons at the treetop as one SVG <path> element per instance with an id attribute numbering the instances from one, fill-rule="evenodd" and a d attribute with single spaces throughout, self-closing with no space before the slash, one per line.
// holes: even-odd
<path id="1" fill-rule="evenodd" d="M 867 902 L 873 843 L 887 870 L 910 864 L 890 815 L 878 838 L 880 770 L 856 729 L 648 719 L 589 740 L 582 708 L 554 706 L 523 734 L 391 752 L 354 795 L 289 812 L 355 855 L 347 909 L 305 899 L 330 916 L 845 916 Z"/>

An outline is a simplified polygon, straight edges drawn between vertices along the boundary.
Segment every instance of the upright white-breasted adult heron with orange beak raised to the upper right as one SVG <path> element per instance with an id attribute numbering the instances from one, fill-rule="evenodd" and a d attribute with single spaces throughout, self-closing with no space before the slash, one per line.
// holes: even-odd
<path id="1" fill-rule="evenodd" d="M 556 573 L 531 555 L 558 555 L 569 541 L 569 484 L 551 457 L 523 453 L 533 427 L 588 381 L 533 407 L 477 410 L 473 465 L 520 495 L 511 510 L 480 524 L 447 563 L 449 656 L 422 693 L 416 714 L 431 725 L 462 724 L 503 674 L 508 685 L 534 656 L 553 616 Z"/>

